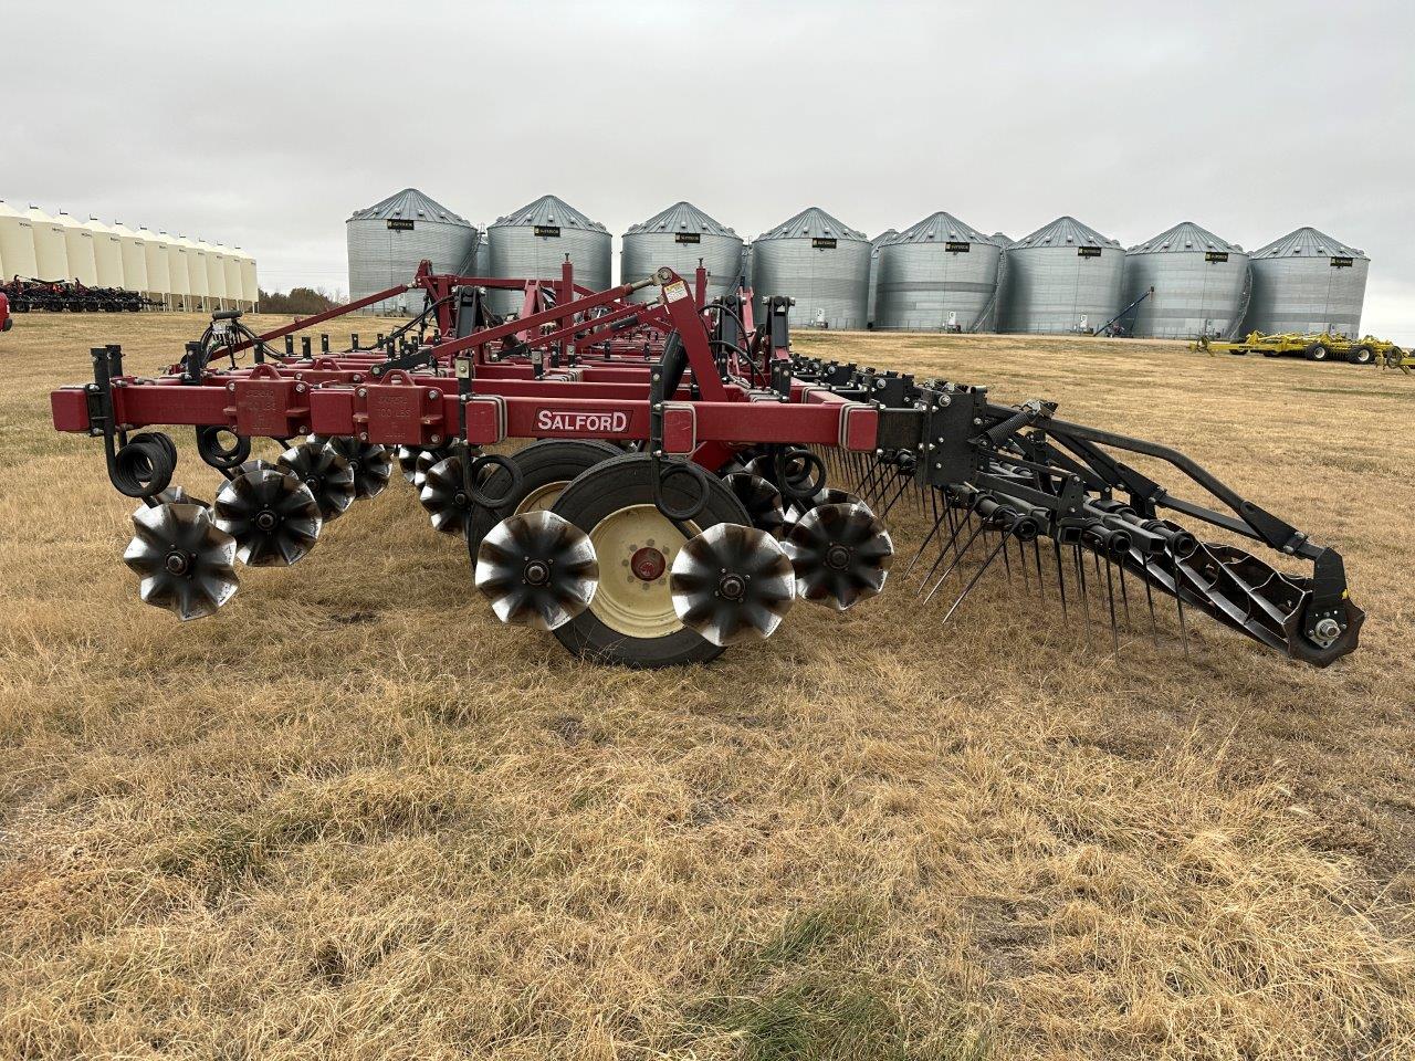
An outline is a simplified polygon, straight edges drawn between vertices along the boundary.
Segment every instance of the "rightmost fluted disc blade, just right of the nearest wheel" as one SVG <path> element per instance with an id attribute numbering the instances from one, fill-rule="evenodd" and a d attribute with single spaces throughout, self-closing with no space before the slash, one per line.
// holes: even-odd
<path id="1" fill-rule="evenodd" d="M 787 533 L 782 546 L 797 576 L 797 596 L 845 611 L 884 589 L 894 543 L 862 502 L 819 505 Z"/>

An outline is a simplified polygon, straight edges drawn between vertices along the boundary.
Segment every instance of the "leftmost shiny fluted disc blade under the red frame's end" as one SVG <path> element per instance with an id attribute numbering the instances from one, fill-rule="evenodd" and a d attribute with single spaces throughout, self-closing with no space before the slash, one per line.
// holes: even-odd
<path id="1" fill-rule="evenodd" d="M 139 596 L 180 620 L 214 615 L 236 593 L 236 539 L 202 505 L 166 504 L 133 514 L 123 563 L 140 577 Z"/>

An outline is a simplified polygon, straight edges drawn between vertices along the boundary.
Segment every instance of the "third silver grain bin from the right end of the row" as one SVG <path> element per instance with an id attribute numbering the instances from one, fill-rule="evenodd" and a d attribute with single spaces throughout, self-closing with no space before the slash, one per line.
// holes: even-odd
<path id="1" fill-rule="evenodd" d="M 1125 252 L 1075 218 L 1057 218 L 1007 248 L 999 331 L 1094 331 L 1121 308 Z"/>

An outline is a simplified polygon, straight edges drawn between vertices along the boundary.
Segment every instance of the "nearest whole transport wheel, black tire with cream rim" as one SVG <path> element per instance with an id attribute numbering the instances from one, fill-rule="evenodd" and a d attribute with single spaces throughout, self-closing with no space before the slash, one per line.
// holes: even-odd
<path id="1" fill-rule="evenodd" d="M 654 505 L 654 474 L 647 454 L 616 457 L 580 475 L 552 508 L 590 536 L 600 563 L 589 610 L 555 631 L 577 656 L 651 669 L 705 663 L 724 651 L 679 621 L 668 574 L 688 538 L 717 523 L 751 521 L 732 489 L 705 472 L 696 481 L 708 484 L 706 504 L 682 525 L 685 535 Z M 689 475 L 662 484 L 665 502 L 675 508 L 691 508 L 696 489 Z"/>

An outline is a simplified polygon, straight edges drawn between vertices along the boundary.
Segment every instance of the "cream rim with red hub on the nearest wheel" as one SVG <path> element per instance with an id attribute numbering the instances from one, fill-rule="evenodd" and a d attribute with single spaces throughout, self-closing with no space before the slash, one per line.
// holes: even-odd
<path id="1" fill-rule="evenodd" d="M 693 523 L 685 526 L 698 533 Z M 600 560 L 600 587 L 590 611 L 600 622 L 633 638 L 661 638 L 683 628 L 668 589 L 674 557 L 688 540 L 676 526 L 654 505 L 630 505 L 596 523 L 590 540 Z M 642 564 L 647 550 L 664 557 L 662 566 L 651 566 L 658 570 L 652 580 L 644 580 L 631 566 L 635 557 Z"/>

